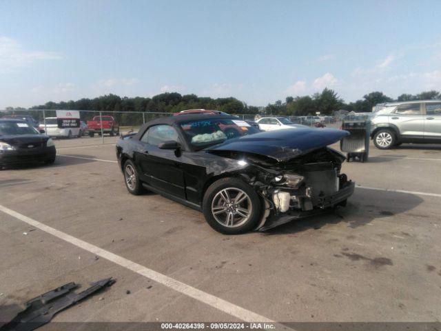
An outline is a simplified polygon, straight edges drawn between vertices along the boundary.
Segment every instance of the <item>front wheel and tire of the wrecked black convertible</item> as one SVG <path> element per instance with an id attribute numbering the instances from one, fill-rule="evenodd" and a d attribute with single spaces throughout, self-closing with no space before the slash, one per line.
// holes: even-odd
<path id="1" fill-rule="evenodd" d="M 235 205 L 237 197 L 240 202 Z M 214 230 L 223 234 L 241 234 L 254 230 L 260 221 L 261 212 L 258 194 L 240 179 L 219 179 L 204 194 L 205 220 Z"/>

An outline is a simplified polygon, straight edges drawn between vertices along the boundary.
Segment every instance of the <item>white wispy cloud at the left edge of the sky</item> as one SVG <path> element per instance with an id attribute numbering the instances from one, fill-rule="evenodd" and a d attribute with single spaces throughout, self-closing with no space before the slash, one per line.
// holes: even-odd
<path id="1" fill-rule="evenodd" d="M 11 72 L 28 67 L 35 61 L 59 60 L 57 52 L 25 50 L 20 43 L 8 37 L 0 37 L 0 72 Z"/>

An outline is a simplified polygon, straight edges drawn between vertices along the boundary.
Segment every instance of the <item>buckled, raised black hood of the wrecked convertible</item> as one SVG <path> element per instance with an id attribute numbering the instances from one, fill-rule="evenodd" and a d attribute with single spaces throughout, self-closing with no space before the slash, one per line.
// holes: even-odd
<path id="1" fill-rule="evenodd" d="M 337 129 L 296 128 L 259 132 L 236 139 L 228 139 L 216 146 L 207 148 L 207 152 L 224 150 L 245 152 L 271 157 L 276 161 L 287 161 L 300 155 L 326 147 L 340 141 L 349 132 Z"/>

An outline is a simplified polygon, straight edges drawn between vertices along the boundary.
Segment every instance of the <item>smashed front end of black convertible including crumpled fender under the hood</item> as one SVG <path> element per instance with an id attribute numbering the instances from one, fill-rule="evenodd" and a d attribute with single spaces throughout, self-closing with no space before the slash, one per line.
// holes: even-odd
<path id="1" fill-rule="evenodd" d="M 265 206 L 256 230 L 344 206 L 355 187 L 340 173 L 345 156 L 329 147 L 283 159 L 225 150 L 216 154 L 248 163 L 236 175 L 252 185 Z"/>

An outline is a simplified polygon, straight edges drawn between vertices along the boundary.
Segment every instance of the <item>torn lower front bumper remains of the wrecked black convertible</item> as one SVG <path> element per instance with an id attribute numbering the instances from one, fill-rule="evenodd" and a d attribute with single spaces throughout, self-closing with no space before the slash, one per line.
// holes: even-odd
<path id="1" fill-rule="evenodd" d="M 325 197 L 319 197 L 313 209 L 289 209 L 287 212 L 283 213 L 271 213 L 265 220 L 265 223 L 263 223 L 263 225 L 256 230 L 266 231 L 271 228 L 275 228 L 278 225 L 293 221 L 294 219 L 303 219 L 305 217 L 311 217 L 328 212 L 330 208 L 335 207 L 336 205 L 344 205 L 347 198 L 353 194 L 354 189 L 355 182 L 347 181 L 337 192 L 329 194 Z"/>

